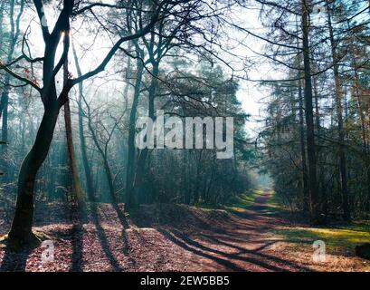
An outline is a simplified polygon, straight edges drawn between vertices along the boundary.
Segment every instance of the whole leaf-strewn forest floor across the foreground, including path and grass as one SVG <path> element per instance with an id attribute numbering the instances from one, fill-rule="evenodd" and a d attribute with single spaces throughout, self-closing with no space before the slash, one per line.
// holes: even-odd
<path id="1" fill-rule="evenodd" d="M 68 208 L 39 207 L 35 229 L 50 237 L 53 261 L 42 259 L 49 246 L 21 254 L 0 247 L 0 271 L 365 269 L 364 260 L 348 253 L 328 256 L 321 267 L 313 263 L 312 243 L 318 238 L 299 239 L 297 230 L 302 227 L 275 208 L 273 197 L 272 189 L 258 189 L 245 208 L 227 210 L 143 206 L 139 217 L 129 218 L 130 227 L 126 229 L 115 209 L 107 204 L 98 205 L 98 218 L 83 225 L 71 224 Z M 0 225 L 0 235 L 8 227 Z M 285 230 L 282 234 L 281 229 Z M 285 235 L 290 230 L 294 233 L 292 240 Z M 350 233 L 351 238 L 354 233 Z"/>

